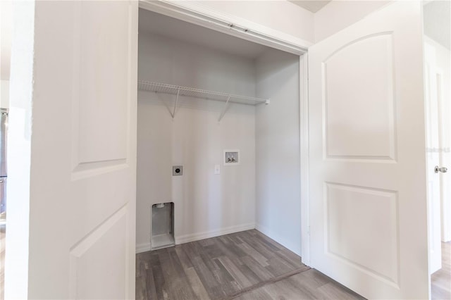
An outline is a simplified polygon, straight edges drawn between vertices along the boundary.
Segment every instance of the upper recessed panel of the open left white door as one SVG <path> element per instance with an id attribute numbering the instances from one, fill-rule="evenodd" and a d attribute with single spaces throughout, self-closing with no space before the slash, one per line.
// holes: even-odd
<path id="1" fill-rule="evenodd" d="M 130 20 L 127 2 L 79 1 L 76 8 L 75 39 L 80 48 L 75 66 L 82 76 L 78 87 L 78 165 L 123 163 L 126 155 L 129 86 Z M 98 20 L 116 20 L 105 24 Z M 100 36 L 99 36 L 100 35 Z M 114 51 L 112 51 L 114 49 Z M 102 74 L 99 76 L 99 70 Z M 107 112 L 107 113 L 99 113 Z M 111 116 L 114 115 L 114 118 Z M 106 135 L 106 133 L 109 134 Z M 97 168 L 97 167 L 96 167 Z"/>

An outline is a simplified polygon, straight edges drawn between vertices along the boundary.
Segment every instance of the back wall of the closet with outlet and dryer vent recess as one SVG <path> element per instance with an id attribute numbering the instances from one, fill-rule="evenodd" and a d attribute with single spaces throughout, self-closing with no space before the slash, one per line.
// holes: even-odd
<path id="1" fill-rule="evenodd" d="M 254 61 L 166 37 L 140 33 L 140 80 L 254 96 Z M 139 92 L 137 251 L 149 249 L 152 204 L 175 203 L 176 242 L 254 228 L 255 108 L 180 97 L 172 119 L 159 99 Z M 240 149 L 237 166 L 223 166 L 223 149 Z M 214 165 L 221 174 L 214 175 Z M 173 177 L 172 166 L 183 165 Z"/>

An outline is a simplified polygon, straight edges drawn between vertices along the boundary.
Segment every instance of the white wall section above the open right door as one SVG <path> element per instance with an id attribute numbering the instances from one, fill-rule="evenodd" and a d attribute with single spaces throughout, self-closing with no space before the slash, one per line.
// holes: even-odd
<path id="1" fill-rule="evenodd" d="M 314 14 L 314 41 L 320 42 L 335 32 L 362 20 L 366 15 L 389 2 L 371 0 L 331 1 Z"/>

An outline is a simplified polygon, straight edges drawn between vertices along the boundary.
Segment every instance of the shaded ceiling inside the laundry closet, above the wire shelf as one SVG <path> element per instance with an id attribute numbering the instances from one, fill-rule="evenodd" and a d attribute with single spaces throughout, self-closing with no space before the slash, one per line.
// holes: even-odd
<path id="1" fill-rule="evenodd" d="M 248 42 L 245 39 L 226 35 L 199 25 L 140 9 L 139 32 L 149 32 L 178 39 L 190 44 L 204 46 L 228 54 L 247 58 L 257 58 L 267 46 Z"/>

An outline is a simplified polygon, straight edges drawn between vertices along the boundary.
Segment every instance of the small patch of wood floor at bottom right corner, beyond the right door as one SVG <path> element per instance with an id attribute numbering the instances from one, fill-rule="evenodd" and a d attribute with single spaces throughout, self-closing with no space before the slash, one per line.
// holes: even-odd
<path id="1" fill-rule="evenodd" d="M 451 242 L 442 243 L 442 268 L 431 275 L 431 298 L 451 299 Z"/>

